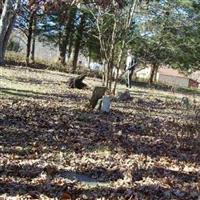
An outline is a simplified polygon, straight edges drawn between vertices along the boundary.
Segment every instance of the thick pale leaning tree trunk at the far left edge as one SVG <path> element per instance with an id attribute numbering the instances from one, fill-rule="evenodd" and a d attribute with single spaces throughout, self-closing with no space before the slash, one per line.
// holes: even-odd
<path id="1" fill-rule="evenodd" d="M 15 3 L 11 0 L 5 0 L 3 4 L 0 18 L 0 64 L 4 63 L 8 39 L 13 29 L 20 2 L 20 0 L 16 0 Z"/>

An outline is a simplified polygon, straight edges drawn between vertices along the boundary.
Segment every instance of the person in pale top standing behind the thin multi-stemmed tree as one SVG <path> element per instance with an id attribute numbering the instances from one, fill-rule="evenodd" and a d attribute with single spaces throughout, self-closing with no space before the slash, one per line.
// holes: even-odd
<path id="1" fill-rule="evenodd" d="M 131 88 L 132 86 L 132 76 L 133 76 L 133 72 L 135 70 L 136 65 L 137 65 L 136 57 L 133 54 L 131 54 L 131 50 L 128 50 L 125 71 L 126 71 L 126 79 L 127 79 L 126 86 L 129 88 Z"/>

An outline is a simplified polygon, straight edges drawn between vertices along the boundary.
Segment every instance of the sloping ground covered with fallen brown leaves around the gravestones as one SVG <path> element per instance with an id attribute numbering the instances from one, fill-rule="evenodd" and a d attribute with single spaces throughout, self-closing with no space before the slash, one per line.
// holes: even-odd
<path id="1" fill-rule="evenodd" d="M 99 80 L 0 70 L 0 197 L 198 199 L 200 122 L 183 95 L 133 87 L 106 115 L 83 109 Z"/>

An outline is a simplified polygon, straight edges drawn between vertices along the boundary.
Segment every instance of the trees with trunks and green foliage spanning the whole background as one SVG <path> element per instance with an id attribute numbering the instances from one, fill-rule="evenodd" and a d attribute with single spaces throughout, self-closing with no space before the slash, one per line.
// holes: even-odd
<path id="1" fill-rule="evenodd" d="M 128 49 L 151 66 L 200 69 L 200 2 L 195 0 L 4 0 L 0 4 L 0 63 L 13 27 L 26 36 L 27 65 L 39 38 L 59 48 L 60 64 L 80 53 L 104 64 L 104 85 L 115 92 Z M 67 57 L 67 58 L 66 58 Z M 116 76 L 113 79 L 113 69 Z"/>

